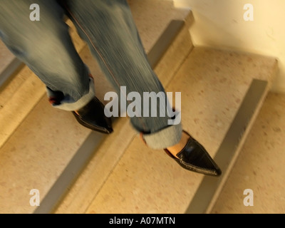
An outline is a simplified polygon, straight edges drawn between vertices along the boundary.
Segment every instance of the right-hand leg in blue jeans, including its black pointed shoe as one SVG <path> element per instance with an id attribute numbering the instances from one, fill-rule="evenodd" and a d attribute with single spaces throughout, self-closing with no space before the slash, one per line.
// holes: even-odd
<path id="1" fill-rule="evenodd" d="M 125 86 L 125 96 L 136 92 L 140 98 L 144 98 L 147 92 L 162 93 L 166 98 L 162 84 L 147 61 L 127 1 L 63 0 L 61 3 L 118 93 Z M 147 108 L 149 115 L 151 108 L 156 108 L 159 113 L 160 110 L 166 110 L 166 102 L 157 103 L 155 107 L 148 105 Z M 187 170 L 220 175 L 214 160 L 199 142 L 182 131 L 181 123 L 169 125 L 168 115 L 144 117 L 143 113 L 144 110 L 141 110 L 141 116 L 130 120 L 133 127 L 142 133 L 147 146 L 165 149 L 170 157 Z"/>

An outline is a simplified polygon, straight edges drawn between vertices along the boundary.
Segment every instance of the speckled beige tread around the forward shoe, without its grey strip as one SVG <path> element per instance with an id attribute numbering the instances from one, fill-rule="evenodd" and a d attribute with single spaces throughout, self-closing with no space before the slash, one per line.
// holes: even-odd
<path id="1" fill-rule="evenodd" d="M 195 47 L 167 91 L 182 92 L 182 124 L 214 157 L 252 79 L 275 72 L 274 58 Z M 203 177 L 136 137 L 86 213 L 185 213 Z"/>

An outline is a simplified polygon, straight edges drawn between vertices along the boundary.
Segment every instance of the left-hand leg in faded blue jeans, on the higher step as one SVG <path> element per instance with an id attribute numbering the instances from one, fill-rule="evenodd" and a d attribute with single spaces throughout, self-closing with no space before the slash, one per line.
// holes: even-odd
<path id="1" fill-rule="evenodd" d="M 39 21 L 30 19 L 32 4 L 39 7 Z M 101 104 L 93 100 L 93 79 L 73 46 L 63 16 L 64 10 L 56 0 L 2 0 L 0 38 L 45 83 L 54 107 L 73 111 L 93 103 L 100 110 L 95 115 L 103 116 Z M 85 115 L 85 110 L 81 113 Z M 100 115 L 97 117 L 103 123 L 105 116 Z M 83 123 L 78 115 L 76 118 Z"/>

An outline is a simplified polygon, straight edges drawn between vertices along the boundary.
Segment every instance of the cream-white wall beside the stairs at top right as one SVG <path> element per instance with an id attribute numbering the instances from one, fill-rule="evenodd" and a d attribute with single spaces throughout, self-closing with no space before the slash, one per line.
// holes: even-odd
<path id="1" fill-rule="evenodd" d="M 231 48 L 274 56 L 279 75 L 272 91 L 285 92 L 285 0 L 174 0 L 192 9 L 190 32 L 196 45 Z M 244 21 L 245 4 L 254 6 L 254 21 Z"/>

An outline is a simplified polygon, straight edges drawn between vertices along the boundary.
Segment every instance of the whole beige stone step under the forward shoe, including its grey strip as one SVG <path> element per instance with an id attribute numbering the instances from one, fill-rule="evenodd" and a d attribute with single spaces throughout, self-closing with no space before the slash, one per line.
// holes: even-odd
<path id="1" fill-rule="evenodd" d="M 195 47 L 167 91 L 182 93 L 184 129 L 207 148 L 223 175 L 208 177 L 183 170 L 163 150 L 150 150 L 135 137 L 85 212 L 210 212 L 276 68 L 275 58 Z M 94 172 L 93 180 L 99 176 Z"/>

